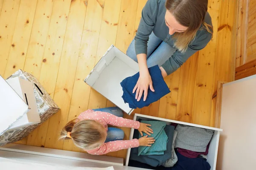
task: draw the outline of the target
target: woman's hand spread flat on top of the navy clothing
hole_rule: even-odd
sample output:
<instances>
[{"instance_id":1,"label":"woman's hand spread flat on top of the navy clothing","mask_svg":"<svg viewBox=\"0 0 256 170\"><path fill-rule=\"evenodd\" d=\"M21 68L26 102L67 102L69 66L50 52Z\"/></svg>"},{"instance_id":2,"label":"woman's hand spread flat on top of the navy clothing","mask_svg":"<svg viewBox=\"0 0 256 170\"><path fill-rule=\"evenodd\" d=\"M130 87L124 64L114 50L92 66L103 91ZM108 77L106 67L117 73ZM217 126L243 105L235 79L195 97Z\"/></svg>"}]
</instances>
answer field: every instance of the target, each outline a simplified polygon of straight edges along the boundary
<instances>
[{"instance_id":1,"label":"woman's hand spread flat on top of the navy clothing","mask_svg":"<svg viewBox=\"0 0 256 170\"><path fill-rule=\"evenodd\" d=\"M143 95L143 91L144 91L143 101L145 101L147 99L148 86L149 86L150 90L154 92L152 79L148 72L148 68L146 68L146 69L140 71L140 77L132 91L132 93L134 93L136 91L135 99L137 99L138 102L140 101L140 98Z\"/></svg>"}]
</instances>

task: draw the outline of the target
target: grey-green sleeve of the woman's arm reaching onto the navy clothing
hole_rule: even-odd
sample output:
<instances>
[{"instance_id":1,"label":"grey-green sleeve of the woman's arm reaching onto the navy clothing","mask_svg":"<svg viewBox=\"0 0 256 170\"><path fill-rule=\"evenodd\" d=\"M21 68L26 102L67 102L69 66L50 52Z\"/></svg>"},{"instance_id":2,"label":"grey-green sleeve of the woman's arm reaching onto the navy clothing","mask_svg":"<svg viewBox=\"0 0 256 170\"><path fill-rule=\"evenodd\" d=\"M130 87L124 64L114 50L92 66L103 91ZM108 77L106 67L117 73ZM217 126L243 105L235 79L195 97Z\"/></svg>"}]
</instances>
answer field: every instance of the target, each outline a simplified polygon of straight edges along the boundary
<instances>
[{"instance_id":1,"label":"grey-green sleeve of the woman's arm reaching onto the navy clothing","mask_svg":"<svg viewBox=\"0 0 256 170\"><path fill-rule=\"evenodd\" d=\"M147 54L148 37L153 31L156 22L156 14L157 1L148 0L142 10L140 25L134 38L136 55Z\"/></svg>"}]
</instances>

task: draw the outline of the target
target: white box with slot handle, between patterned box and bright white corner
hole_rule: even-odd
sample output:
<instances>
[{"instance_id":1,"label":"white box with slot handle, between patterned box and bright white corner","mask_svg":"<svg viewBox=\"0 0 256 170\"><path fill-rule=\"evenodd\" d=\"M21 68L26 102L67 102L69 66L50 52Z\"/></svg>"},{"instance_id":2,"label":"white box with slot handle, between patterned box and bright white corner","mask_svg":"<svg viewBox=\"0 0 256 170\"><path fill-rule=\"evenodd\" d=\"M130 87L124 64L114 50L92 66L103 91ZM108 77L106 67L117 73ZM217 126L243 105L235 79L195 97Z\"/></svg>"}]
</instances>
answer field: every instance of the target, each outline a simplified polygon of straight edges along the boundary
<instances>
[{"instance_id":1,"label":"white box with slot handle, between patterned box and bright white corner","mask_svg":"<svg viewBox=\"0 0 256 170\"><path fill-rule=\"evenodd\" d=\"M14 130L22 127L27 127L41 122L38 106L35 100L34 87L32 82L14 77L7 79L6 82L15 90L15 92L23 99L24 102L31 108L17 122L15 122L9 130Z\"/></svg>"}]
</instances>

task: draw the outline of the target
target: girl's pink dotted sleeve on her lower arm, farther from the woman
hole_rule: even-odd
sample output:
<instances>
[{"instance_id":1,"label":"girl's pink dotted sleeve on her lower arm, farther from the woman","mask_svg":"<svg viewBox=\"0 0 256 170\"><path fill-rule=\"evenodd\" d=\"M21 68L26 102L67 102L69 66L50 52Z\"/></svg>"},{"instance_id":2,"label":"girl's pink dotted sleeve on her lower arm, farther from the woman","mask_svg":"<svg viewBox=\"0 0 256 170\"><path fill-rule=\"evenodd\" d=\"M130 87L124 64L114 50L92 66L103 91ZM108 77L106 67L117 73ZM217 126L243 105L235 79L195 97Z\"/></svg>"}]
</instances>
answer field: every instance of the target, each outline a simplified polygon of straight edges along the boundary
<instances>
[{"instance_id":1,"label":"girl's pink dotted sleeve on her lower arm, farther from the woman","mask_svg":"<svg viewBox=\"0 0 256 170\"><path fill-rule=\"evenodd\" d=\"M138 139L132 139L127 141L117 140L113 142L104 143L101 146L97 147L96 149L86 150L86 151L91 155L103 155L109 152L115 152L118 150L139 147L139 146L140 144Z\"/></svg>"}]
</instances>

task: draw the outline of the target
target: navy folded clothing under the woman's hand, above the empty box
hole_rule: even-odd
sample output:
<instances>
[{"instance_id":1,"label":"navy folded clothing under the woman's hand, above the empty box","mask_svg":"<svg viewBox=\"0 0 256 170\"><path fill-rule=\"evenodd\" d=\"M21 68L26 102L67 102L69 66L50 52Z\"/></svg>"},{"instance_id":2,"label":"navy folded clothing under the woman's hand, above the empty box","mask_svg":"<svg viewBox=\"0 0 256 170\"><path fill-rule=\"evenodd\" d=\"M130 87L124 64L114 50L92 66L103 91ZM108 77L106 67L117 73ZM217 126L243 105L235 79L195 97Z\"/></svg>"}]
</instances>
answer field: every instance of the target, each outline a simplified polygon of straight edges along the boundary
<instances>
[{"instance_id":1,"label":"navy folded clothing under the woman's hand, above the empty box","mask_svg":"<svg viewBox=\"0 0 256 170\"><path fill-rule=\"evenodd\" d=\"M122 98L125 103L129 104L130 108L143 108L145 106L150 105L153 102L156 102L157 100L161 99L161 97L171 92L168 86L166 85L166 82L163 80L163 76L158 65L148 68L148 71L153 82L154 92L148 89L148 96L145 101L143 101L144 94L142 95L140 101L137 102L137 100L135 99L136 92L134 94L132 93L140 77L139 72L134 76L125 78L120 83L123 90Z\"/></svg>"}]
</instances>

